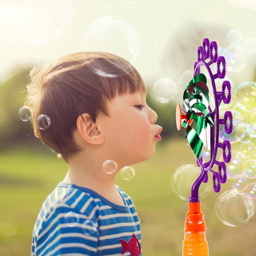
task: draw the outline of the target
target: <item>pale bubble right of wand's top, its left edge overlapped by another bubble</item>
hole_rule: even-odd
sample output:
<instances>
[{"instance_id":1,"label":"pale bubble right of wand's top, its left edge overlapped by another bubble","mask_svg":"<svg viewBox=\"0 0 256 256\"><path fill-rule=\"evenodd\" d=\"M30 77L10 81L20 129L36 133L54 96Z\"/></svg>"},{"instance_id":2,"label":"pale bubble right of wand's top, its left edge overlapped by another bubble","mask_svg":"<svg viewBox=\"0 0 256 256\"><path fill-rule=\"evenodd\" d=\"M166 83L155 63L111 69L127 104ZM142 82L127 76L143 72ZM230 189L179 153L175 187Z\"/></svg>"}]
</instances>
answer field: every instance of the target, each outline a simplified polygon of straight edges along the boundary
<instances>
[{"instance_id":1,"label":"pale bubble right of wand's top, its left edge overlapped by another bubble","mask_svg":"<svg viewBox=\"0 0 256 256\"><path fill-rule=\"evenodd\" d=\"M244 49L239 45L230 45L227 48L233 54L230 60L230 72L238 72L246 66L246 54Z\"/></svg>"}]
</instances>

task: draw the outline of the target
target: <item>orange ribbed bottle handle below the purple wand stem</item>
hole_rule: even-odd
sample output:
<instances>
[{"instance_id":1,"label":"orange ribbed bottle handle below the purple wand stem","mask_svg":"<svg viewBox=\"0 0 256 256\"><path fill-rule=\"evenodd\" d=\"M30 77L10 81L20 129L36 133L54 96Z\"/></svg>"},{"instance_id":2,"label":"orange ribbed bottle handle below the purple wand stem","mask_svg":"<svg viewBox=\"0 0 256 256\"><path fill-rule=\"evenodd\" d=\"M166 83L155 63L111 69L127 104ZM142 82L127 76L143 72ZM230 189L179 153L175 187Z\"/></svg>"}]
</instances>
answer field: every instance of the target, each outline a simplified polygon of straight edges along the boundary
<instances>
[{"instance_id":1,"label":"orange ribbed bottle handle below the purple wand stem","mask_svg":"<svg viewBox=\"0 0 256 256\"><path fill-rule=\"evenodd\" d=\"M205 238L206 230L204 212L201 211L200 201L188 202L182 256L209 256L208 243Z\"/></svg>"}]
</instances>

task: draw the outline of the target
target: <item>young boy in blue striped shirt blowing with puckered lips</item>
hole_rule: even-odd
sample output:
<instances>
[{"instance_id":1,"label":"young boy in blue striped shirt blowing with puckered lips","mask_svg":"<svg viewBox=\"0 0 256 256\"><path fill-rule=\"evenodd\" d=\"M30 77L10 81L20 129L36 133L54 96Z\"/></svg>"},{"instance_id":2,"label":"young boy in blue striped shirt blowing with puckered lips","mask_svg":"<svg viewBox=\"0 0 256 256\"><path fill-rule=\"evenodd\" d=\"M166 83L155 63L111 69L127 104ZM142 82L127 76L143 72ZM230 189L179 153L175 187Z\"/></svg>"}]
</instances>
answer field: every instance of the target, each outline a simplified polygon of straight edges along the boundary
<instances>
[{"instance_id":1,"label":"young boy in blue striped shirt blowing with puckered lips","mask_svg":"<svg viewBox=\"0 0 256 256\"><path fill-rule=\"evenodd\" d=\"M115 184L118 170L154 154L162 131L140 74L115 54L75 52L29 75L35 136L69 167L37 216L32 256L141 256L140 219Z\"/></svg>"}]
</instances>

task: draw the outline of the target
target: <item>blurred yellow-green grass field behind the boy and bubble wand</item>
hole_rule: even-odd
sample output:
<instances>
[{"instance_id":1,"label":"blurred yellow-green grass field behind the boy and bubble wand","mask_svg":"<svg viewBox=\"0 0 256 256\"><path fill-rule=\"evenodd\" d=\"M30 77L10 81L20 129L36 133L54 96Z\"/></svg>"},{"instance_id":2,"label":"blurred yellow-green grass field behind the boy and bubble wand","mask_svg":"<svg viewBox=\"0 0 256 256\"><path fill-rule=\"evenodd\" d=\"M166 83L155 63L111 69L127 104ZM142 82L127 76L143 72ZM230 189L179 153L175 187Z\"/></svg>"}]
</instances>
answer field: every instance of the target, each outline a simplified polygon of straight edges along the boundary
<instances>
[{"instance_id":1,"label":"blurred yellow-green grass field behind the boy and bubble wand","mask_svg":"<svg viewBox=\"0 0 256 256\"><path fill-rule=\"evenodd\" d=\"M175 139L156 143L156 151L147 161L134 164L136 175L118 184L132 197L141 220L144 256L180 256L184 239L184 221L188 202L178 198L170 187L172 173L183 164L196 164L187 140ZM44 146L44 145L43 145ZM43 150L42 150L43 149ZM31 255L32 231L42 203L64 179L68 164L45 146L6 147L0 152L0 255ZM211 176L210 176L211 177ZM208 182L211 182L211 178ZM231 189L230 180L220 193L201 200L206 221L206 239L211 256L256 255L256 218L243 227L228 227L215 215L217 197ZM199 195L200 196L200 195Z\"/></svg>"}]
</instances>

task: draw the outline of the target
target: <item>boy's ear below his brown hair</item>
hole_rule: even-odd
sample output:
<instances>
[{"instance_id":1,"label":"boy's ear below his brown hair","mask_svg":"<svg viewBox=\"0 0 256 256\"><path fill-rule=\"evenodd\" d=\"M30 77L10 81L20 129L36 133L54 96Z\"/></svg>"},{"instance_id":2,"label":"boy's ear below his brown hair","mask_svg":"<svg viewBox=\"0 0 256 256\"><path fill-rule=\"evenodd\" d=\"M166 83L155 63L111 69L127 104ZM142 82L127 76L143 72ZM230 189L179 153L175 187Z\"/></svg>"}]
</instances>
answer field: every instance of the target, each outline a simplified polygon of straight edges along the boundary
<instances>
[{"instance_id":1,"label":"boy's ear below his brown hair","mask_svg":"<svg viewBox=\"0 0 256 256\"><path fill-rule=\"evenodd\" d=\"M83 113L77 117L76 126L80 136L86 142L96 145L104 142L105 139L102 132L98 130L88 113Z\"/></svg>"}]
</instances>

